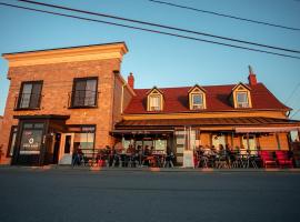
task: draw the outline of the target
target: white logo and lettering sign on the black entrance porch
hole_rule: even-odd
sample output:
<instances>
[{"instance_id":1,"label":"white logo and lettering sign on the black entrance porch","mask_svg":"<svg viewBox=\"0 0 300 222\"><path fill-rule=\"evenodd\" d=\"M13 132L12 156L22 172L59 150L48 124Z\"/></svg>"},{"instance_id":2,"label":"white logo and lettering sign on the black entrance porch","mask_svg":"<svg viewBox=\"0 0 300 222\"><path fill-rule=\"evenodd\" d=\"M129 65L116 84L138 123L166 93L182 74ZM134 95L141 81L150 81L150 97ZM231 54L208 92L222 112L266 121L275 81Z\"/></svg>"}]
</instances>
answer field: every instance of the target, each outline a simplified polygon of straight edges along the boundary
<instances>
[{"instance_id":1,"label":"white logo and lettering sign on the black entrance porch","mask_svg":"<svg viewBox=\"0 0 300 222\"><path fill-rule=\"evenodd\" d=\"M20 154L40 154L42 130L26 129L22 132Z\"/></svg>"}]
</instances>

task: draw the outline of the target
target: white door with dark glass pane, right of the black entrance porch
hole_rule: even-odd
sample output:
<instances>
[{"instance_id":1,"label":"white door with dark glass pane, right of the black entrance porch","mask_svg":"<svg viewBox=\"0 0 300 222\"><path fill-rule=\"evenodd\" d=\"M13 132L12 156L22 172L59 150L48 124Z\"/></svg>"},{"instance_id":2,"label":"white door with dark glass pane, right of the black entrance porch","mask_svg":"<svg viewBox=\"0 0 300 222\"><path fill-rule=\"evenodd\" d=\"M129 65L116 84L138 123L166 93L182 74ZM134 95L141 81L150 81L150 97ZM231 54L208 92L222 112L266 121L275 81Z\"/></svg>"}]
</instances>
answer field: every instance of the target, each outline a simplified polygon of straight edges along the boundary
<instances>
[{"instance_id":1,"label":"white door with dark glass pane, right of the black entrance porch","mask_svg":"<svg viewBox=\"0 0 300 222\"><path fill-rule=\"evenodd\" d=\"M72 164L74 133L61 134L59 164Z\"/></svg>"}]
</instances>

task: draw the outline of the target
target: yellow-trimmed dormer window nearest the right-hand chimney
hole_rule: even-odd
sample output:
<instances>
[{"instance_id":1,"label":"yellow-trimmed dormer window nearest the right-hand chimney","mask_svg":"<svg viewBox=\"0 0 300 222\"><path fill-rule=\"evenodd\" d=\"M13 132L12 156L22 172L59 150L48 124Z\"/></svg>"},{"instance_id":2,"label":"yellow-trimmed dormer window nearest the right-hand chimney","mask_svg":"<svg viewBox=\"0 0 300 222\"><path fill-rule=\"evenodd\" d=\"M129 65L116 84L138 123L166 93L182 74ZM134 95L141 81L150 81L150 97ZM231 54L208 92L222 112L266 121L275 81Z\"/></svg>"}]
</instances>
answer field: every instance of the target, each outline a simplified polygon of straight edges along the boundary
<instances>
[{"instance_id":1,"label":"yellow-trimmed dormer window nearest the right-hand chimney","mask_svg":"<svg viewBox=\"0 0 300 222\"><path fill-rule=\"evenodd\" d=\"M250 88L243 83L237 84L232 89L232 99L234 108L251 108Z\"/></svg>"}]
</instances>

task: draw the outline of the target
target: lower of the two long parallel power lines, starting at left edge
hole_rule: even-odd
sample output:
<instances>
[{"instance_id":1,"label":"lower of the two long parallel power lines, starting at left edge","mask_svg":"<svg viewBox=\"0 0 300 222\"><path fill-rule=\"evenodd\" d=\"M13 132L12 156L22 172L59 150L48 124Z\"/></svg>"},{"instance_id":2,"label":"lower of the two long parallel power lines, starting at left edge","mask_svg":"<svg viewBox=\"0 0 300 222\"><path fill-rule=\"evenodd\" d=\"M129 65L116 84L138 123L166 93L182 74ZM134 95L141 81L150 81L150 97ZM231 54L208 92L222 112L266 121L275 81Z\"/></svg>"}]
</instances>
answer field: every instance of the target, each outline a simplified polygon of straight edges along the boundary
<instances>
[{"instance_id":1,"label":"lower of the two long parallel power lines, starting at left edge","mask_svg":"<svg viewBox=\"0 0 300 222\"><path fill-rule=\"evenodd\" d=\"M29 11L37 11L37 12L54 14L54 16L60 16L60 17L67 17L67 18L73 18L73 19L79 19L79 20L84 20L84 21L93 21L93 22L99 22L99 23L104 23L104 24L110 24L110 26L116 26L116 27L122 27L122 28L128 28L128 29L147 31L147 32L151 32L151 33L177 37L177 38L181 38L181 39L189 39L189 40L201 41L201 42L207 42L207 43L212 43L212 44L219 44L219 46L224 46L224 47L230 47L230 48L236 48L236 49L243 49L243 50L248 50L248 51L274 54L274 56L279 56L279 57L300 59L300 57L296 57L296 56L291 56L291 54L283 54L283 53L266 51L266 50L260 50L260 49L253 49L253 48L248 48L248 47L240 47L240 46L236 46L236 44L228 44L228 43L223 43L223 42L204 40L204 39L199 39L199 38L193 38L193 37L171 33L171 32L158 31L158 30L153 30L153 29L144 29L144 28L140 28L140 27L121 24L121 23L117 23L117 22L109 22L109 21L103 21L103 20L90 19L90 18L84 18L84 17L78 17L78 16L71 16L71 14L59 13L59 12L53 12L53 11L40 10L40 9L34 9L34 8L29 8L29 7L21 7L21 6L9 4L9 3L3 3L3 2L0 2L0 6L18 8L18 9L24 9L24 10L29 10Z\"/></svg>"}]
</instances>

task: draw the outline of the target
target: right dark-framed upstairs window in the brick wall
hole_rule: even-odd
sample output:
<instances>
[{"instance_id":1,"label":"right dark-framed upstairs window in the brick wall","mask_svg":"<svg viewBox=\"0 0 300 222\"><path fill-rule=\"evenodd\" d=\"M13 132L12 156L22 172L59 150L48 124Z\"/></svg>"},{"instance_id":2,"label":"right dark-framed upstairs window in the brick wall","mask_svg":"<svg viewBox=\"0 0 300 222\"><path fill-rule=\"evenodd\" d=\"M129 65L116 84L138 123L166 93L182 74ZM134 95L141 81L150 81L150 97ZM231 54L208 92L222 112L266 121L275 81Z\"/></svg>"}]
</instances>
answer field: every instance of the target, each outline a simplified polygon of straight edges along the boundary
<instances>
[{"instance_id":1,"label":"right dark-framed upstairs window in the brick wall","mask_svg":"<svg viewBox=\"0 0 300 222\"><path fill-rule=\"evenodd\" d=\"M97 78L74 79L71 107L96 107L97 84Z\"/></svg>"}]
</instances>

